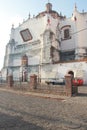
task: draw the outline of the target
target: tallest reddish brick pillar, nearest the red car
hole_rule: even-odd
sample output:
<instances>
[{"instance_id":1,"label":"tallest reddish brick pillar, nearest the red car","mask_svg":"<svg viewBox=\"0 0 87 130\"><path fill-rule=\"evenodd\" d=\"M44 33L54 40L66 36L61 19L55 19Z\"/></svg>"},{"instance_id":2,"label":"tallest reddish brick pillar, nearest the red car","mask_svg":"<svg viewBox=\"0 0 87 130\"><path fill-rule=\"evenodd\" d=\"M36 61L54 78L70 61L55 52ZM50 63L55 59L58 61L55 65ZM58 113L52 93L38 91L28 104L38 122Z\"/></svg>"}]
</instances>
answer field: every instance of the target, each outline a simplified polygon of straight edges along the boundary
<instances>
[{"instance_id":1,"label":"tallest reddish brick pillar, nearest the red car","mask_svg":"<svg viewBox=\"0 0 87 130\"><path fill-rule=\"evenodd\" d=\"M65 75L65 89L66 96L72 96L72 76L70 74Z\"/></svg>"}]
</instances>

